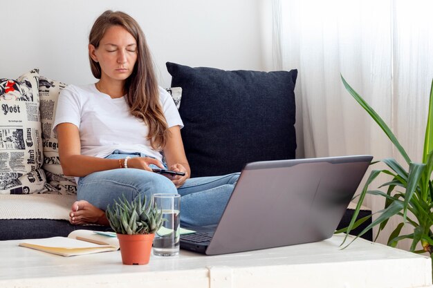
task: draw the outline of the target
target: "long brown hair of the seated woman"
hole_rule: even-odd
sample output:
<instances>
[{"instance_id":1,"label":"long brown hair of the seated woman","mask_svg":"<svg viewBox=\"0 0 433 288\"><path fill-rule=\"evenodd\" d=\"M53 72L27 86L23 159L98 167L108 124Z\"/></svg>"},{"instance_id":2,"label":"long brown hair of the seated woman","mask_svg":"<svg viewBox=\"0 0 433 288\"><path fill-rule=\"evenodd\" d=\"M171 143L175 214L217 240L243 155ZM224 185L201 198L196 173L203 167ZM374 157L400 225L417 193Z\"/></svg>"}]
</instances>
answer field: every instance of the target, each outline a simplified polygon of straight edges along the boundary
<instances>
[{"instance_id":1,"label":"long brown hair of the seated woman","mask_svg":"<svg viewBox=\"0 0 433 288\"><path fill-rule=\"evenodd\" d=\"M142 119L149 127L147 140L152 148L160 150L167 143L169 131L159 102L158 83L145 34L131 16L124 12L107 10L93 24L89 34L89 44L98 48L100 40L111 26L122 26L137 41L137 61L132 74L125 82L127 104L132 115ZM100 79L100 64L93 61L90 54L89 60L93 76Z\"/></svg>"}]
</instances>

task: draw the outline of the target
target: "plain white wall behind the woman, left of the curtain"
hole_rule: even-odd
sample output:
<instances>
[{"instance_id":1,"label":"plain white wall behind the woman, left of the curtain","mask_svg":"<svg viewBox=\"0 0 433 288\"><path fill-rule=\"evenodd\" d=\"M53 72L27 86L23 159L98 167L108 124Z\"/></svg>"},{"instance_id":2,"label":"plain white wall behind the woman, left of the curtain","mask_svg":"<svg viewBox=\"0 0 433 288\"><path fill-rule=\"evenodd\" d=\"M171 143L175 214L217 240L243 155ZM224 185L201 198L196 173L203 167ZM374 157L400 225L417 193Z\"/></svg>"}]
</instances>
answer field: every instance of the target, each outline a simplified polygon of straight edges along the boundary
<instances>
[{"instance_id":1,"label":"plain white wall behind the woman, left of the curtain","mask_svg":"<svg viewBox=\"0 0 433 288\"><path fill-rule=\"evenodd\" d=\"M87 37L104 10L134 17L147 36L161 86L166 61L225 70L264 70L262 0L1 0L0 77L34 67L66 84L95 81Z\"/></svg>"}]
</instances>

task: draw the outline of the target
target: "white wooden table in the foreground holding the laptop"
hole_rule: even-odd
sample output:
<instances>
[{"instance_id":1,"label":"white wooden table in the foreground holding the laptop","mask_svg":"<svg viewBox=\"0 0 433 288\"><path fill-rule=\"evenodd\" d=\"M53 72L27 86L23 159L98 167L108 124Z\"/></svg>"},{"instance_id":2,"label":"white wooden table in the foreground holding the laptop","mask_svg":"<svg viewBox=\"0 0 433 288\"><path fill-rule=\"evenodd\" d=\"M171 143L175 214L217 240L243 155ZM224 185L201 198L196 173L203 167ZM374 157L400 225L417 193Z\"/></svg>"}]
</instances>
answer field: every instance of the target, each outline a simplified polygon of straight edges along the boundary
<instances>
[{"instance_id":1,"label":"white wooden table in the foreground holding the laptop","mask_svg":"<svg viewBox=\"0 0 433 288\"><path fill-rule=\"evenodd\" d=\"M182 251L122 265L120 251L65 258L0 241L0 287L433 287L426 256L342 236L221 256Z\"/></svg>"}]
</instances>

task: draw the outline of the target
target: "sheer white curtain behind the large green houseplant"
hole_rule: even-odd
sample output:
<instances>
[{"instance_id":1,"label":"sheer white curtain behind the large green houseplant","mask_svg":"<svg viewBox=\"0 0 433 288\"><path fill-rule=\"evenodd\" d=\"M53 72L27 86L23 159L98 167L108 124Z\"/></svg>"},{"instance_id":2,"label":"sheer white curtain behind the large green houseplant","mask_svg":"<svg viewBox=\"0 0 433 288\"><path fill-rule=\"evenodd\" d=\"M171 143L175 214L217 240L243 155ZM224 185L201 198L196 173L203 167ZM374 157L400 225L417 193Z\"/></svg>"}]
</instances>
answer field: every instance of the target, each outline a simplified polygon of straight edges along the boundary
<instances>
[{"instance_id":1,"label":"sheer white curtain behind the large green houseplant","mask_svg":"<svg viewBox=\"0 0 433 288\"><path fill-rule=\"evenodd\" d=\"M303 146L298 155L368 153L376 160L401 160L376 123L346 92L341 73L383 117L412 160L421 161L433 77L433 2L271 3L273 68L299 70L297 129L302 130ZM383 207L378 198L368 201L373 211ZM385 235L379 238L379 242L386 240Z\"/></svg>"}]
</instances>

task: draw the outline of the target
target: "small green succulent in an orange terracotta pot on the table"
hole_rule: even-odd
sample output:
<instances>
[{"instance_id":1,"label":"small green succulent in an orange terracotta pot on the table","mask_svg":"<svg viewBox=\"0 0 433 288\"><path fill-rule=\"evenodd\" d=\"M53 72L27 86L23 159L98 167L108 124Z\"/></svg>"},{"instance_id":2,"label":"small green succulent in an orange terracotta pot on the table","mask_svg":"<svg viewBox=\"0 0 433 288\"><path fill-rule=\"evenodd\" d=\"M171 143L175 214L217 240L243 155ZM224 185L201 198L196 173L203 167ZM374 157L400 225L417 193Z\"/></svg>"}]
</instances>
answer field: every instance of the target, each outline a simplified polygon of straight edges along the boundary
<instances>
[{"instance_id":1,"label":"small green succulent in an orange terracotta pot on the table","mask_svg":"<svg viewBox=\"0 0 433 288\"><path fill-rule=\"evenodd\" d=\"M140 195L129 202L125 195L107 207L107 218L117 233L122 262L125 265L149 263L155 232L163 224L163 214L156 209L153 198Z\"/></svg>"}]
</instances>

